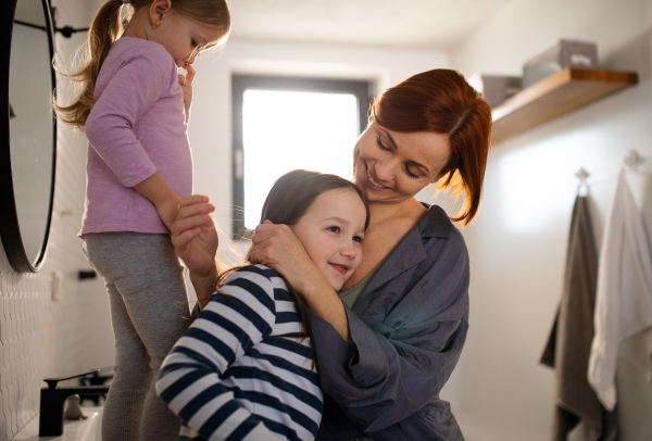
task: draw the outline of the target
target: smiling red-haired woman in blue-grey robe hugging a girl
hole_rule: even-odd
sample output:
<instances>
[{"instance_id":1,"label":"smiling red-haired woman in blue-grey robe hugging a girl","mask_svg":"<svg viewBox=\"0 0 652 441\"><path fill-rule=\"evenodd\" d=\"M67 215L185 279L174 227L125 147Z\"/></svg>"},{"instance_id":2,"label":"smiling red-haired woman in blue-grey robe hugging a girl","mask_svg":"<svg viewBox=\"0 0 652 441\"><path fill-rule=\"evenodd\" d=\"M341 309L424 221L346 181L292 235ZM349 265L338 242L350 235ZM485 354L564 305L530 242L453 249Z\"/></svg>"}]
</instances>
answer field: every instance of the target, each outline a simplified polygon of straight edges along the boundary
<instances>
[{"instance_id":1,"label":"smiling red-haired woman in blue-grey robe hugging a girl","mask_svg":"<svg viewBox=\"0 0 652 441\"><path fill-rule=\"evenodd\" d=\"M310 310L325 408L323 440L463 440L439 392L468 329L468 254L444 213L415 199L425 187L464 193L453 222L477 214L491 110L450 70L414 75L371 105L355 148L354 182L369 223L363 262L335 292L286 225L256 227L250 260L280 273ZM214 286L212 205L181 203L173 243L198 297Z\"/></svg>"}]
</instances>

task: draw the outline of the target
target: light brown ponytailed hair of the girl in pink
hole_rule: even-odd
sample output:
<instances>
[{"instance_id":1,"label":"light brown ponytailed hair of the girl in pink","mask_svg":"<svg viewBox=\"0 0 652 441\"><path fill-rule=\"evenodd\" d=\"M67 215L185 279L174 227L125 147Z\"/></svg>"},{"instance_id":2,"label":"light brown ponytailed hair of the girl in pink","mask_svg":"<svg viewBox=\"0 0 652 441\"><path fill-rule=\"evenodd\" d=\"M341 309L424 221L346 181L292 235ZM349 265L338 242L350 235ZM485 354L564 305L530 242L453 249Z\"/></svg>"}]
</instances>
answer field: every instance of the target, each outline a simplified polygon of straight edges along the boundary
<instances>
[{"instance_id":1,"label":"light brown ponytailed hair of the girl in pink","mask_svg":"<svg viewBox=\"0 0 652 441\"><path fill-rule=\"evenodd\" d=\"M170 0L172 9L179 14L206 26L222 27L226 37L230 30L230 14L225 0ZM131 7L127 16L130 18L135 11L147 8L152 0L130 0ZM86 119L96 103L95 86L102 63L109 54L109 49L124 30L121 11L123 0L109 0L96 13L88 30L88 53L84 66L67 77L79 84L79 96L70 105L59 105L53 99L54 112L59 118L76 126L84 131ZM222 39L224 40L224 38Z\"/></svg>"}]
</instances>

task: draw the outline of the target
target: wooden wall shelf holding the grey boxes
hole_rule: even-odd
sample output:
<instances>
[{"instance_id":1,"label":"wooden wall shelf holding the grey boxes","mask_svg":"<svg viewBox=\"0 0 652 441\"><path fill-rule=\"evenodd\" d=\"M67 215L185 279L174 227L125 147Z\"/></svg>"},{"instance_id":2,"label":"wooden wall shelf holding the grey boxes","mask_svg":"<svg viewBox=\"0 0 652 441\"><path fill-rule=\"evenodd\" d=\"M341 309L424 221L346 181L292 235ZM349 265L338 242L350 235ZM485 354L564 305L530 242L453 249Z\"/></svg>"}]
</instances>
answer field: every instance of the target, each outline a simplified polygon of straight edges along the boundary
<instances>
[{"instance_id":1,"label":"wooden wall shelf holding the grey boxes","mask_svg":"<svg viewBox=\"0 0 652 441\"><path fill-rule=\"evenodd\" d=\"M637 83L634 72L565 68L494 108L492 141L523 134Z\"/></svg>"}]
</instances>

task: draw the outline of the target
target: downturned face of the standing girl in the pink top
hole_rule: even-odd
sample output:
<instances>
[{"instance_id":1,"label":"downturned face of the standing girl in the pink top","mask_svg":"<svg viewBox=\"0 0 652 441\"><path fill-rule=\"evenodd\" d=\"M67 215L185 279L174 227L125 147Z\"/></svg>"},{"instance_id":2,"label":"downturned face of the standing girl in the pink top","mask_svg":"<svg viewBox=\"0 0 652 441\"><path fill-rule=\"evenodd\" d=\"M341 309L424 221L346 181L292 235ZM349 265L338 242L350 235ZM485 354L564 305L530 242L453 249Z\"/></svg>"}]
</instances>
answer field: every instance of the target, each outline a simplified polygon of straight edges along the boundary
<instances>
[{"instance_id":1,"label":"downturned face of the standing girl in the pink top","mask_svg":"<svg viewBox=\"0 0 652 441\"><path fill-rule=\"evenodd\" d=\"M199 52L215 46L225 35L224 29L202 25L174 9L162 16L154 29L148 29L148 39L163 46L177 67L195 63Z\"/></svg>"}]
</instances>

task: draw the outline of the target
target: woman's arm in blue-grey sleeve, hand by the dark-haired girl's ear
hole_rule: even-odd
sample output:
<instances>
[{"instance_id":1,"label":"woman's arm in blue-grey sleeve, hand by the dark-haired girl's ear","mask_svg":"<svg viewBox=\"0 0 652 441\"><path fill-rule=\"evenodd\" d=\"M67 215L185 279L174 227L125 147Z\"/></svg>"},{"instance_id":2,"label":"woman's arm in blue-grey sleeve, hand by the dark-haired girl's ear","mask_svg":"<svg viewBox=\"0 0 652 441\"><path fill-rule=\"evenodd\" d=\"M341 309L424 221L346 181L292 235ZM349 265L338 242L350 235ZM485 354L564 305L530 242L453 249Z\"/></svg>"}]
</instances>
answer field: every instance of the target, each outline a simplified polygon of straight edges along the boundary
<instances>
[{"instance_id":1,"label":"woman's arm in blue-grey sleeve, hand by the dark-haired girl's ear","mask_svg":"<svg viewBox=\"0 0 652 441\"><path fill-rule=\"evenodd\" d=\"M365 304L356 305L360 316L343 305L343 319L328 315L327 308L321 314L313 311L324 392L362 432L394 430L400 421L414 418L427 403L438 400L466 339L466 247L446 213L430 215L436 218L430 224L442 227L430 225L435 232L426 243L417 229L401 242L379 275L388 274L390 267L402 269L394 269L394 276L377 288L372 281L373 291L359 300ZM291 231L266 226L253 239L258 259L298 286L306 301L312 299L311 308L322 304L319 297L337 297L321 285L316 288L318 279L305 263L308 257L301 257L297 244L291 244ZM291 257L286 260L286 255Z\"/></svg>"}]
</instances>

